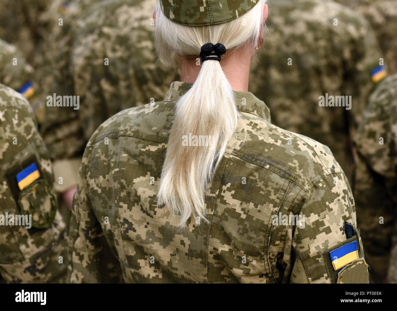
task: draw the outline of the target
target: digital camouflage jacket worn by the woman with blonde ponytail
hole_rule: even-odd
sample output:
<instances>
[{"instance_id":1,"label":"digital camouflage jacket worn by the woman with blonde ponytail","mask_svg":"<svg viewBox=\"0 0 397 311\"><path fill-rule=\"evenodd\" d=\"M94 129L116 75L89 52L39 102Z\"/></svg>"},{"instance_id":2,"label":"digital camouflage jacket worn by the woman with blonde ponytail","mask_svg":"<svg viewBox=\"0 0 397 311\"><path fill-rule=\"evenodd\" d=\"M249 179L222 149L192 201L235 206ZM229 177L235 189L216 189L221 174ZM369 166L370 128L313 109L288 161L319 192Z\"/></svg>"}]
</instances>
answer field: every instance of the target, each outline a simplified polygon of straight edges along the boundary
<instances>
[{"instance_id":1,"label":"digital camouflage jacket worn by the woman with blonde ponytail","mask_svg":"<svg viewBox=\"0 0 397 311\"><path fill-rule=\"evenodd\" d=\"M345 234L356 215L343 170L326 146L272 125L249 92L235 92L241 132L207 193L210 225L190 220L178 231L156 187L175 100L188 88L173 82L164 101L121 111L91 137L71 219L71 282L368 282L360 237ZM281 220L292 215L301 222ZM357 258L335 270L330 251L349 243Z\"/></svg>"}]
</instances>

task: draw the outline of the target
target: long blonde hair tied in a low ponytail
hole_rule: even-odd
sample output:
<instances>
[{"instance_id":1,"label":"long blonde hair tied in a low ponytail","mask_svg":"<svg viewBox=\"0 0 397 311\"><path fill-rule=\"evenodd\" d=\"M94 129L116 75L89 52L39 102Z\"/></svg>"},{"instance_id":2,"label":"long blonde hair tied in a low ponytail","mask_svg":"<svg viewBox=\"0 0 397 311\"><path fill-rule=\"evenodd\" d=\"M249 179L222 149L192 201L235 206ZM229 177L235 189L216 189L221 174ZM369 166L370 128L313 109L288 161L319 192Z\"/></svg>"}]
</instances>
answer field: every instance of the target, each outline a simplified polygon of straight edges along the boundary
<instances>
[{"instance_id":1,"label":"long blonde hair tied in a low ponytail","mask_svg":"<svg viewBox=\"0 0 397 311\"><path fill-rule=\"evenodd\" d=\"M157 4L155 40L160 59L171 64L175 55L198 56L201 46L208 42L220 42L231 53L244 44L250 44L254 51L264 23L265 3L258 0L250 11L232 21L197 27L170 21ZM205 193L236 132L237 118L235 96L220 63L204 61L196 81L175 103L157 195L159 205L180 216L179 227L184 227L191 216L208 222ZM187 137L201 137L206 143L186 145Z\"/></svg>"}]
</instances>

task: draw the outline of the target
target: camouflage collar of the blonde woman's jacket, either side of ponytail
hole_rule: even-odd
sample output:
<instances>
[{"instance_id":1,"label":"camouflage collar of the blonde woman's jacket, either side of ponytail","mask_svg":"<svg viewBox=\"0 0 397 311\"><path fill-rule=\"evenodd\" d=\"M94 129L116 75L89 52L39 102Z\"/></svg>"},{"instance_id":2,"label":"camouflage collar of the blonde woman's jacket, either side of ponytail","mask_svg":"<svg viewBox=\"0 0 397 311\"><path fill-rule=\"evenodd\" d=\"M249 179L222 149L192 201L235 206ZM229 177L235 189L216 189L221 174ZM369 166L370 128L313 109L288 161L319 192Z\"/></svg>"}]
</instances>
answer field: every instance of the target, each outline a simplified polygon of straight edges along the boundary
<instances>
[{"instance_id":1,"label":"camouflage collar of the blonde woman's jacket, either side of ponytail","mask_svg":"<svg viewBox=\"0 0 397 311\"><path fill-rule=\"evenodd\" d=\"M187 92L191 86L192 84L187 82L172 82L164 101L177 101L177 99ZM270 111L263 101L256 98L251 92L233 92L236 96L238 111L255 114L270 122Z\"/></svg>"}]
</instances>

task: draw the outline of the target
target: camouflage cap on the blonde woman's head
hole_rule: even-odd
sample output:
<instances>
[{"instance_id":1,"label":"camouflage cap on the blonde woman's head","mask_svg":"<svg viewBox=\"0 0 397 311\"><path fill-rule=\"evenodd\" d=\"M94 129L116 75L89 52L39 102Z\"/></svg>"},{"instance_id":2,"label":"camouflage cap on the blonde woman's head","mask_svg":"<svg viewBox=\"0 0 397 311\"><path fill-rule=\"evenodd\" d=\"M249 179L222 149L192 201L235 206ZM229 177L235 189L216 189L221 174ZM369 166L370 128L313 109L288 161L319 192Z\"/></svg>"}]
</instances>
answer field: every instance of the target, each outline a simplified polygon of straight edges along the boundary
<instances>
[{"instance_id":1,"label":"camouflage cap on the blonde woman's head","mask_svg":"<svg viewBox=\"0 0 397 311\"><path fill-rule=\"evenodd\" d=\"M258 0L160 0L164 15L188 26L221 24L251 10Z\"/></svg>"}]
</instances>

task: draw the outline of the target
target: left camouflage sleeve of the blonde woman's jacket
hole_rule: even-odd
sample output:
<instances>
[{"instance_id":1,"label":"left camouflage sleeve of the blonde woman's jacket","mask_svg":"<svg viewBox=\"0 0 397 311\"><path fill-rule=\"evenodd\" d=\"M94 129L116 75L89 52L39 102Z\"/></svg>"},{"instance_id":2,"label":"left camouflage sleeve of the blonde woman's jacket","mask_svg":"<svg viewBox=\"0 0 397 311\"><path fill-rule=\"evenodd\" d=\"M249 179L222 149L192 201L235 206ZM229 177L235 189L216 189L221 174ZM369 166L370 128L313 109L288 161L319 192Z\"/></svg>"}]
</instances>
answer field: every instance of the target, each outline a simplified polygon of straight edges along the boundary
<instances>
[{"instance_id":1,"label":"left camouflage sleeve of the blonde woman's jacket","mask_svg":"<svg viewBox=\"0 0 397 311\"><path fill-rule=\"evenodd\" d=\"M69 256L71 283L118 283L123 281L114 256L89 199L87 163L91 145L87 145L70 220ZM104 223L104 219L102 219ZM71 257L71 258L70 258Z\"/></svg>"}]
</instances>

